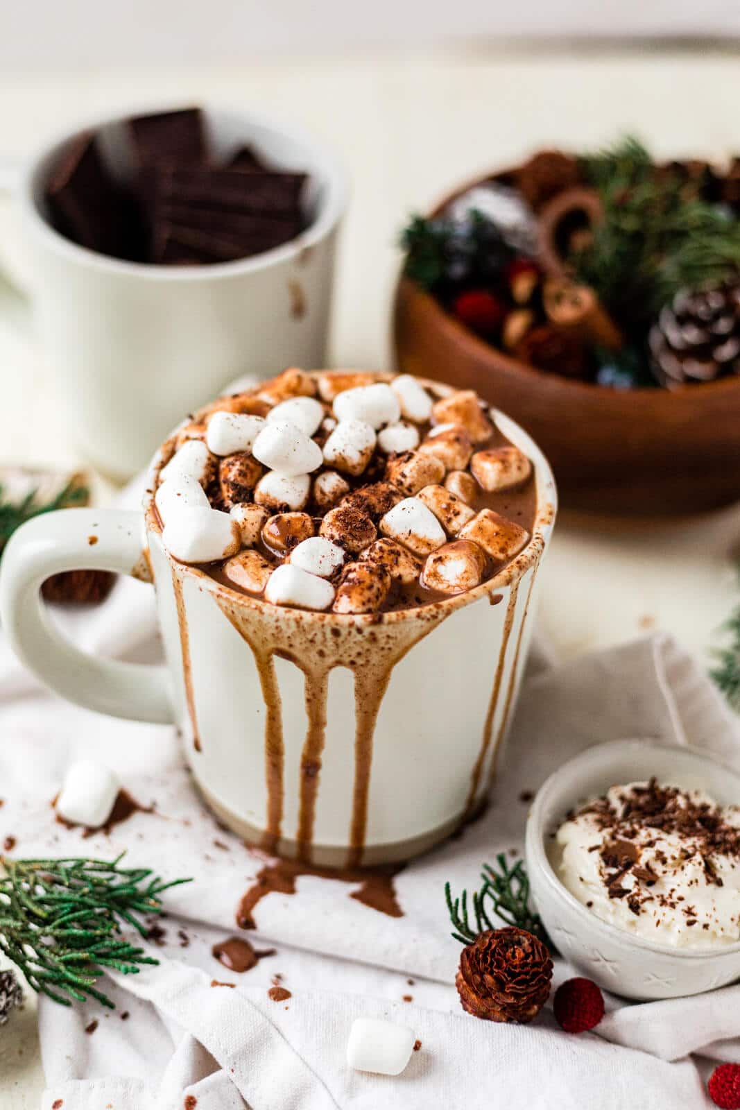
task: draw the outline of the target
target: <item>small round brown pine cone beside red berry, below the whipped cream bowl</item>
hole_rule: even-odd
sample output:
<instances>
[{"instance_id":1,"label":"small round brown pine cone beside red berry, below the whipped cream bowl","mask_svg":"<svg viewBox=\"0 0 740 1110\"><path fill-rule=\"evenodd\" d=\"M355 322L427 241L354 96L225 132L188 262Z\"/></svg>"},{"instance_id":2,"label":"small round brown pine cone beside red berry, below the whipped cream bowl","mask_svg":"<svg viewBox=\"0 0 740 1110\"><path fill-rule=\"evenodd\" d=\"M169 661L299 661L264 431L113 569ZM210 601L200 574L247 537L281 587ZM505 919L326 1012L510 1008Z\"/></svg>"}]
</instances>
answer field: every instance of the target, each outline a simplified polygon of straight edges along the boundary
<instances>
[{"instance_id":1,"label":"small round brown pine cone beside red berry, below the whipped cream bowl","mask_svg":"<svg viewBox=\"0 0 740 1110\"><path fill-rule=\"evenodd\" d=\"M485 1021L524 1023L547 1001L553 960L541 940L525 929L481 932L460 955L455 979L463 1009Z\"/></svg>"}]
</instances>

